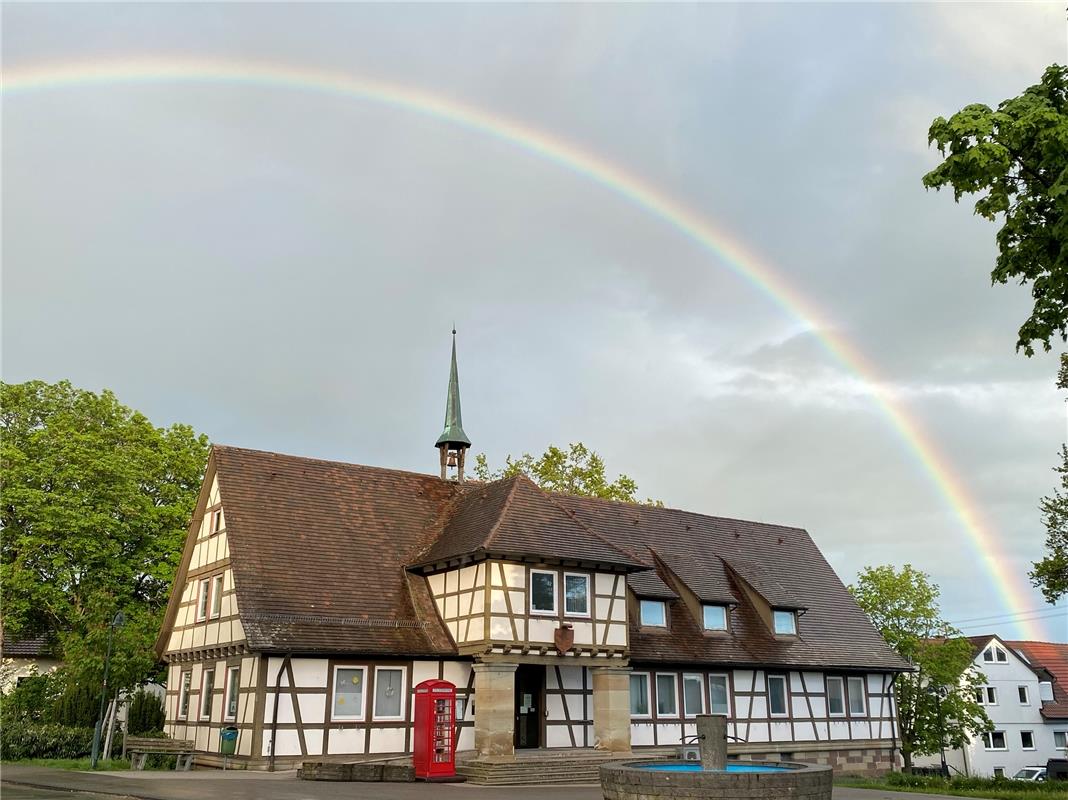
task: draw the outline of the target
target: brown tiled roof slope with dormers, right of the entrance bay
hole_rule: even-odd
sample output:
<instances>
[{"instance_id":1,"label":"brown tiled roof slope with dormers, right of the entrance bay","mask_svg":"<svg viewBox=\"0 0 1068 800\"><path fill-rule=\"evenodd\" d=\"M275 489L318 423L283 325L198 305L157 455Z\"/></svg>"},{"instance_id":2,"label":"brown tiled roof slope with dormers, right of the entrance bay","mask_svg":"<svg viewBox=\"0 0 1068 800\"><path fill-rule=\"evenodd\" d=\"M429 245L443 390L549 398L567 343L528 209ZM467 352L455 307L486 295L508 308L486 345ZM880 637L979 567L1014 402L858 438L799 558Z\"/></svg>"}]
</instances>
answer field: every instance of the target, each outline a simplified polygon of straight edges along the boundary
<instances>
[{"instance_id":1,"label":"brown tiled roof slope with dormers, right of the entrance bay","mask_svg":"<svg viewBox=\"0 0 1068 800\"><path fill-rule=\"evenodd\" d=\"M749 603L732 612L731 636L723 637L705 634L676 600L671 603L671 636L642 633L631 621L634 662L910 669L886 645L812 538L799 528L594 498L557 499L572 508L578 519L624 549L646 547L659 552L663 548L678 555L713 553L732 563L758 563L763 572L774 576L783 591L806 608L798 622L797 639L776 639ZM733 594L741 597L741 587L733 585Z\"/></svg>"}]
</instances>

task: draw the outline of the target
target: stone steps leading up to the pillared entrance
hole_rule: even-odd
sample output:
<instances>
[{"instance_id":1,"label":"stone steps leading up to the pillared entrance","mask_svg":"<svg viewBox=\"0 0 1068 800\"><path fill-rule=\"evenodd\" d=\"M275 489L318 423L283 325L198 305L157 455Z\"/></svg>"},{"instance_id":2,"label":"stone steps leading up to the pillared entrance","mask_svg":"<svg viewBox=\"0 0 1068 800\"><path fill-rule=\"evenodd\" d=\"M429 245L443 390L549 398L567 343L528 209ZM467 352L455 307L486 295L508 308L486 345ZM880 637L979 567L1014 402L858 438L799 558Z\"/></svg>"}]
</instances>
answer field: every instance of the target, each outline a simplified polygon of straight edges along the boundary
<instances>
[{"instance_id":1,"label":"stone steps leading up to the pillared entrance","mask_svg":"<svg viewBox=\"0 0 1068 800\"><path fill-rule=\"evenodd\" d=\"M674 754L672 749L671 754ZM626 758L657 758L669 752L644 751L640 755L600 753L597 751L543 751L523 753L514 762L487 762L472 759L456 765L456 772L470 783L484 786L519 786L523 784L598 783L600 765Z\"/></svg>"}]
</instances>

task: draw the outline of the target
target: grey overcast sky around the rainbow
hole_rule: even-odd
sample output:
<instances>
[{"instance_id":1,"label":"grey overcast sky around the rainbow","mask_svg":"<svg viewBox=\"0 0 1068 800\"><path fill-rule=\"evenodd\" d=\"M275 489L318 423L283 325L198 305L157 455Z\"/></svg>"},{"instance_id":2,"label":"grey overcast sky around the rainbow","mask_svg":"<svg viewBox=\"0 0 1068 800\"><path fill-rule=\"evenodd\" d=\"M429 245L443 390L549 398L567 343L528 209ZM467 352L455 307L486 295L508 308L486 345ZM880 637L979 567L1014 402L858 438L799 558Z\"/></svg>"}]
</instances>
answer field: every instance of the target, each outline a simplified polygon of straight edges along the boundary
<instances>
[{"instance_id":1,"label":"grey overcast sky around the rainbow","mask_svg":"<svg viewBox=\"0 0 1068 800\"><path fill-rule=\"evenodd\" d=\"M5 72L270 62L547 131L728 232L829 330L619 194L447 121L113 82L4 99L3 379L433 472L455 320L465 428L491 461L581 440L643 497L806 528L847 583L910 562L967 632L1021 636L1008 615L1045 609L1037 632L1066 641L1063 606L1004 601L818 341L866 356L1025 587L1065 438L1055 354L1014 351L1030 298L990 286L996 226L921 177L934 116L1064 63L1063 5L5 4Z\"/></svg>"}]
</instances>

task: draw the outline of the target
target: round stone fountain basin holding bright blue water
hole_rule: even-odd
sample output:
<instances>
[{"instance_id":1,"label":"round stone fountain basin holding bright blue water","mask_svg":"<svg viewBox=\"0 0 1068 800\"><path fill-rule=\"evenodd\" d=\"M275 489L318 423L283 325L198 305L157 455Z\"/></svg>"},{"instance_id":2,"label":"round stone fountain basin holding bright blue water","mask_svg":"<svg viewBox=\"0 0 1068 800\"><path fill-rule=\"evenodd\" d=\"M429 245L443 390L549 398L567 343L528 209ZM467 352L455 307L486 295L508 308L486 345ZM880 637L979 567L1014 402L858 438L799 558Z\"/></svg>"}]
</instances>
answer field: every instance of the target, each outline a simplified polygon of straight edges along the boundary
<instances>
[{"instance_id":1,"label":"round stone fountain basin holding bright blue water","mask_svg":"<svg viewBox=\"0 0 1068 800\"><path fill-rule=\"evenodd\" d=\"M705 771L693 769L693 762L615 762L600 768L601 791L604 800L831 800L829 766L795 762L728 762L728 766L765 769Z\"/></svg>"}]
</instances>

